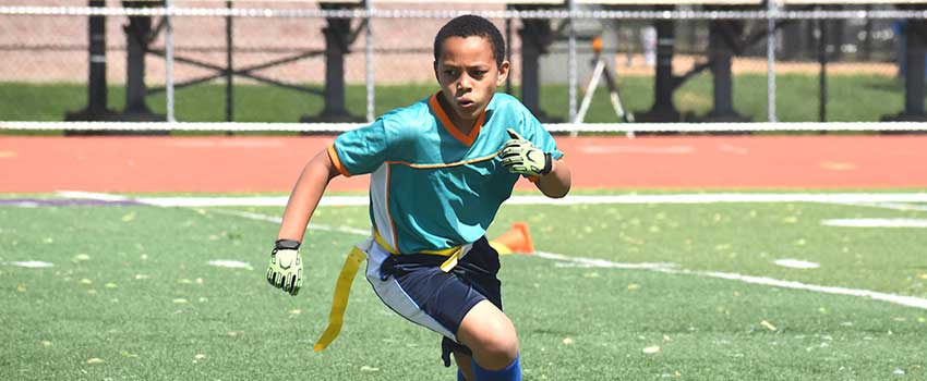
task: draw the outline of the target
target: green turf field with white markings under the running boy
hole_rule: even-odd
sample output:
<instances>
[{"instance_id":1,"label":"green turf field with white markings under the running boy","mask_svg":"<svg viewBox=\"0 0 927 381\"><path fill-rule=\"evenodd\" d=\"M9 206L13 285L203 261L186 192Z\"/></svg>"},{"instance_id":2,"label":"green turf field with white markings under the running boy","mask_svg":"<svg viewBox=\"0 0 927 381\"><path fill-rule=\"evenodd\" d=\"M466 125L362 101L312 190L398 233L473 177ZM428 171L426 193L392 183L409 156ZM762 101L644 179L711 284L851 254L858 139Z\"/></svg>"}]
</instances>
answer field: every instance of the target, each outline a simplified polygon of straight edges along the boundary
<instances>
[{"instance_id":1,"label":"green turf field with white markings under the running boy","mask_svg":"<svg viewBox=\"0 0 927 381\"><path fill-rule=\"evenodd\" d=\"M36 195L0 199L25 197ZM924 221L925 209L507 205L490 236L527 221L538 250L585 258L503 257L526 380L925 380L923 307L706 275L927 302L927 230L822 224ZM362 276L341 335L313 353L363 236L311 230L304 288L290 297L263 278L277 224L236 214L281 210L0 204L0 380L455 379L438 336L389 311ZM313 223L369 229L365 207L323 207ZM820 267L773 263L785 258ZM208 265L220 259L249 267ZM641 262L673 271L602 265Z\"/></svg>"}]
</instances>

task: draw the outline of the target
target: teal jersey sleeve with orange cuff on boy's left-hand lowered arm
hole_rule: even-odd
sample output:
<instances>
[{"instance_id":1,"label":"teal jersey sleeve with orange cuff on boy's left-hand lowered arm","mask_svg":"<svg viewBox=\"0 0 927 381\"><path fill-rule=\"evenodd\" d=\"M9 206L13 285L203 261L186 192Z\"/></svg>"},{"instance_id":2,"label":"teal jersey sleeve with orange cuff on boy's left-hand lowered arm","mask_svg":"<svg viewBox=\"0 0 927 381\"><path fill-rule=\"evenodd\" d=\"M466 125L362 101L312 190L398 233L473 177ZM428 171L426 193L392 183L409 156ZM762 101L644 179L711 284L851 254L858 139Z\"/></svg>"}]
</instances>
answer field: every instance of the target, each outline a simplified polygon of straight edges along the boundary
<instances>
[{"instance_id":1,"label":"teal jersey sleeve with orange cuff on boy's left-hand lowered arm","mask_svg":"<svg viewBox=\"0 0 927 381\"><path fill-rule=\"evenodd\" d=\"M345 176L375 171L387 160L389 142L383 119L373 124L351 130L335 138L328 147L332 162Z\"/></svg>"}]
</instances>

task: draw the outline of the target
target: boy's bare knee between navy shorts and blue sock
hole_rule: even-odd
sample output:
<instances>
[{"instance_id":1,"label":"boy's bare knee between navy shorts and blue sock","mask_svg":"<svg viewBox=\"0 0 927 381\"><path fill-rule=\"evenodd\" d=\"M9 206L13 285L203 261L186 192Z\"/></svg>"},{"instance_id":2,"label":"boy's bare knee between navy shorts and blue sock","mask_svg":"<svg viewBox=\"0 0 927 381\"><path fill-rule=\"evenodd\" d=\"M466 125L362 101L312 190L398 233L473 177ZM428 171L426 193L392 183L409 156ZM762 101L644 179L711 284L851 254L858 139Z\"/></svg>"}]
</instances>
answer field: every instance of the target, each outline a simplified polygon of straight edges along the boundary
<instances>
[{"instance_id":1,"label":"boy's bare knee between navy shorts and blue sock","mask_svg":"<svg viewBox=\"0 0 927 381\"><path fill-rule=\"evenodd\" d=\"M489 300L478 303L467 312L457 331L457 339L470 347L473 359L483 369L505 369L518 356L515 325Z\"/></svg>"}]
</instances>

